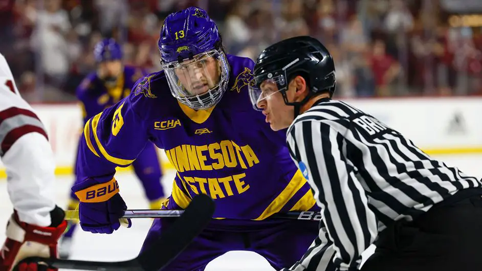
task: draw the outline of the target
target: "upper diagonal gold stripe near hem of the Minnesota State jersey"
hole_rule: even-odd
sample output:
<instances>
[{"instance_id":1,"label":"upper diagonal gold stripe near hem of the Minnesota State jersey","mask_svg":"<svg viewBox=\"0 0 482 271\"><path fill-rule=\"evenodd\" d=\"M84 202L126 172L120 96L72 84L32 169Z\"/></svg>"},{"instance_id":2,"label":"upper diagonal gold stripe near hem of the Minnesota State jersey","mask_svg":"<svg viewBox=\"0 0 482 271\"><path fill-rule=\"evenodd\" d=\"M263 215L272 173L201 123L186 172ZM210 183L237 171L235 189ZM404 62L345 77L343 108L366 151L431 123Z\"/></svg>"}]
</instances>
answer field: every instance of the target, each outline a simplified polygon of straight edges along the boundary
<instances>
[{"instance_id":1,"label":"upper diagonal gold stripe near hem of the Minnesota State jersey","mask_svg":"<svg viewBox=\"0 0 482 271\"><path fill-rule=\"evenodd\" d=\"M299 169L296 171L293 178L291 178L290 183L279 193L279 195L273 199L271 204L254 220L263 220L267 217L278 213L284 205L298 192L298 190L306 184L306 179L301 174Z\"/></svg>"}]
</instances>

